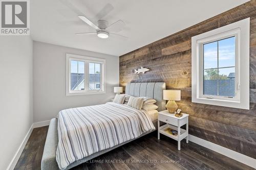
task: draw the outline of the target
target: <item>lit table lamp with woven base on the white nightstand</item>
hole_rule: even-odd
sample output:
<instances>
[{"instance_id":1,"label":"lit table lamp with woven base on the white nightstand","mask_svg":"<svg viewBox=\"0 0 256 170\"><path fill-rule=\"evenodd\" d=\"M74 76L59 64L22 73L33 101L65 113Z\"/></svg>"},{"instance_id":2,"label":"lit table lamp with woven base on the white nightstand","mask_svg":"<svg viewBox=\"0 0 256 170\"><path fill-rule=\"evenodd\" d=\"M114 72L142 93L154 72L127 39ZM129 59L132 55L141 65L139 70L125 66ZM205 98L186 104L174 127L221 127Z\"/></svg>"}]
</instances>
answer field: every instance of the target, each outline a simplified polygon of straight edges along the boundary
<instances>
[{"instance_id":1,"label":"lit table lamp with woven base on the white nightstand","mask_svg":"<svg viewBox=\"0 0 256 170\"><path fill-rule=\"evenodd\" d=\"M175 101L180 101L180 90L163 90L163 100L167 100L166 109L169 113L174 113L178 105Z\"/></svg>"}]
</instances>

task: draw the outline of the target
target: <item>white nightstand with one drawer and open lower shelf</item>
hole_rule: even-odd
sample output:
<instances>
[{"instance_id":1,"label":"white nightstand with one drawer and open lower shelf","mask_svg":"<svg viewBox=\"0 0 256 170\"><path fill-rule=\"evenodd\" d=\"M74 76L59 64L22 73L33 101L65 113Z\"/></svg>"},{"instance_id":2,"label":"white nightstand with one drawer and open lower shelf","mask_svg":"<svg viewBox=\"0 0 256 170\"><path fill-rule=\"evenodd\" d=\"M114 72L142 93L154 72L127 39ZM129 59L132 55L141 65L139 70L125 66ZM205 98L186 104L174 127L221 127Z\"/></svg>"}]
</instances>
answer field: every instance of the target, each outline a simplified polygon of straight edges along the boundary
<instances>
[{"instance_id":1,"label":"white nightstand with one drawer and open lower shelf","mask_svg":"<svg viewBox=\"0 0 256 170\"><path fill-rule=\"evenodd\" d=\"M160 133L173 138L178 141L178 150L180 150L180 141L186 138L186 142L188 143L188 116L189 114L182 113L182 117L176 117L175 114L168 113L168 110L164 110L158 113L158 139L160 139ZM160 122L166 123L165 125L160 127ZM186 124L186 130L180 128L181 126ZM177 135L170 134L165 129L170 128L178 131Z\"/></svg>"}]
</instances>

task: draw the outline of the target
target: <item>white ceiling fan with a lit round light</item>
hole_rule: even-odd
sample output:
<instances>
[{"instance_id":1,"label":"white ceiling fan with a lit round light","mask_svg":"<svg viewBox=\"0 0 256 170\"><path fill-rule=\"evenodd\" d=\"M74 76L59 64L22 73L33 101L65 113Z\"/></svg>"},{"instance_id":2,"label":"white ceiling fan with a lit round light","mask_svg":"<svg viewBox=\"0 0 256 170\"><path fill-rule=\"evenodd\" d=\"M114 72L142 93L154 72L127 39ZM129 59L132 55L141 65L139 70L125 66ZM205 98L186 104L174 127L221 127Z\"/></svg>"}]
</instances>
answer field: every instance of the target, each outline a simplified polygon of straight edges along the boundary
<instances>
[{"instance_id":1,"label":"white ceiling fan with a lit round light","mask_svg":"<svg viewBox=\"0 0 256 170\"><path fill-rule=\"evenodd\" d=\"M111 25L109 25L108 21L106 20L98 20L98 26L96 26L92 21L90 21L87 17L83 15L78 15L78 18L80 18L82 21L86 22L89 26L94 28L95 32L76 33L76 35L95 34L99 38L109 38L109 36L115 35L115 36L121 36L121 37L127 38L123 35L113 33L113 32L121 31L123 29L125 24L122 20L118 20L112 23Z\"/></svg>"}]
</instances>

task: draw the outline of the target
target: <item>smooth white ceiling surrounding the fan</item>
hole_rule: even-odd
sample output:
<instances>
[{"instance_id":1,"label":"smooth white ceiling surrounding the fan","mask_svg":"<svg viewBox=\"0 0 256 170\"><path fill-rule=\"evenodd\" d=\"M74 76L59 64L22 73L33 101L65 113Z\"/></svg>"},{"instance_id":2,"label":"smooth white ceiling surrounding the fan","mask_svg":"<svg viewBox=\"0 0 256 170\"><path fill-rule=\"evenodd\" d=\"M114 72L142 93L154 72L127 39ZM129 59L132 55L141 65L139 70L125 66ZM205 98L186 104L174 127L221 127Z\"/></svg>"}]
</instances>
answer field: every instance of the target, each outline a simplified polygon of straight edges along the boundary
<instances>
[{"instance_id":1,"label":"smooth white ceiling surrounding the fan","mask_svg":"<svg viewBox=\"0 0 256 170\"><path fill-rule=\"evenodd\" d=\"M63 3L65 1L72 3L96 25L99 19L109 23L123 20L126 26L118 34L129 38L75 35L95 30L82 22L77 13ZM245 2L248 0L33 0L31 36L36 41L120 56ZM99 18L108 11L104 7L111 6L113 10Z\"/></svg>"}]
</instances>

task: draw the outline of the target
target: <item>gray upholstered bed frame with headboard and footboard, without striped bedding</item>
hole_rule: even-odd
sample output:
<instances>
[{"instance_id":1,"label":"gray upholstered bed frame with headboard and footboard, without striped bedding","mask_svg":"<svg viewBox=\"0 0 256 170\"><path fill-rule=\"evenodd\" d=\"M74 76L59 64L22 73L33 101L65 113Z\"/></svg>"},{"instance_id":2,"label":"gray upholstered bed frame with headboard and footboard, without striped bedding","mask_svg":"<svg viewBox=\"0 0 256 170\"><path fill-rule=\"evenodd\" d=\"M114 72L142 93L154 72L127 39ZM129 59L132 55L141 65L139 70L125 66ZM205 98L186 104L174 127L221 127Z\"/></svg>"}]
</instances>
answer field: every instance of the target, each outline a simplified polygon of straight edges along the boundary
<instances>
[{"instance_id":1,"label":"gray upholstered bed frame with headboard and footboard, without striped bedding","mask_svg":"<svg viewBox=\"0 0 256 170\"><path fill-rule=\"evenodd\" d=\"M165 89L165 83L158 82L158 83L128 83L125 86L125 94L129 94L132 96L147 96L153 98L157 101L156 105L158 106L158 111L165 110L165 101L163 100L163 90ZM117 107L115 104L105 104L108 107ZM98 105L99 106L99 105ZM104 106L105 107L105 106ZM125 108L125 107L124 107ZM100 109L100 108L99 108ZM128 114L128 113L127 113ZM157 128L157 120L154 120L153 125ZM48 169L59 169L58 164L56 162L56 150L58 146L58 120L57 118L53 118L50 121L50 126L47 134L47 139L45 143L44 153L41 160L41 169L48 170ZM93 159L101 154L109 152L121 145L133 141L141 136L144 136L148 133L151 133L154 130L146 131L136 136L132 139L126 140L121 142L117 145L112 146L111 148L104 149L98 151L96 153L90 154L82 159L74 161L73 163L69 164L65 169L70 169L78 164L84 163L90 159ZM63 168L62 168L63 169Z\"/></svg>"}]
</instances>

